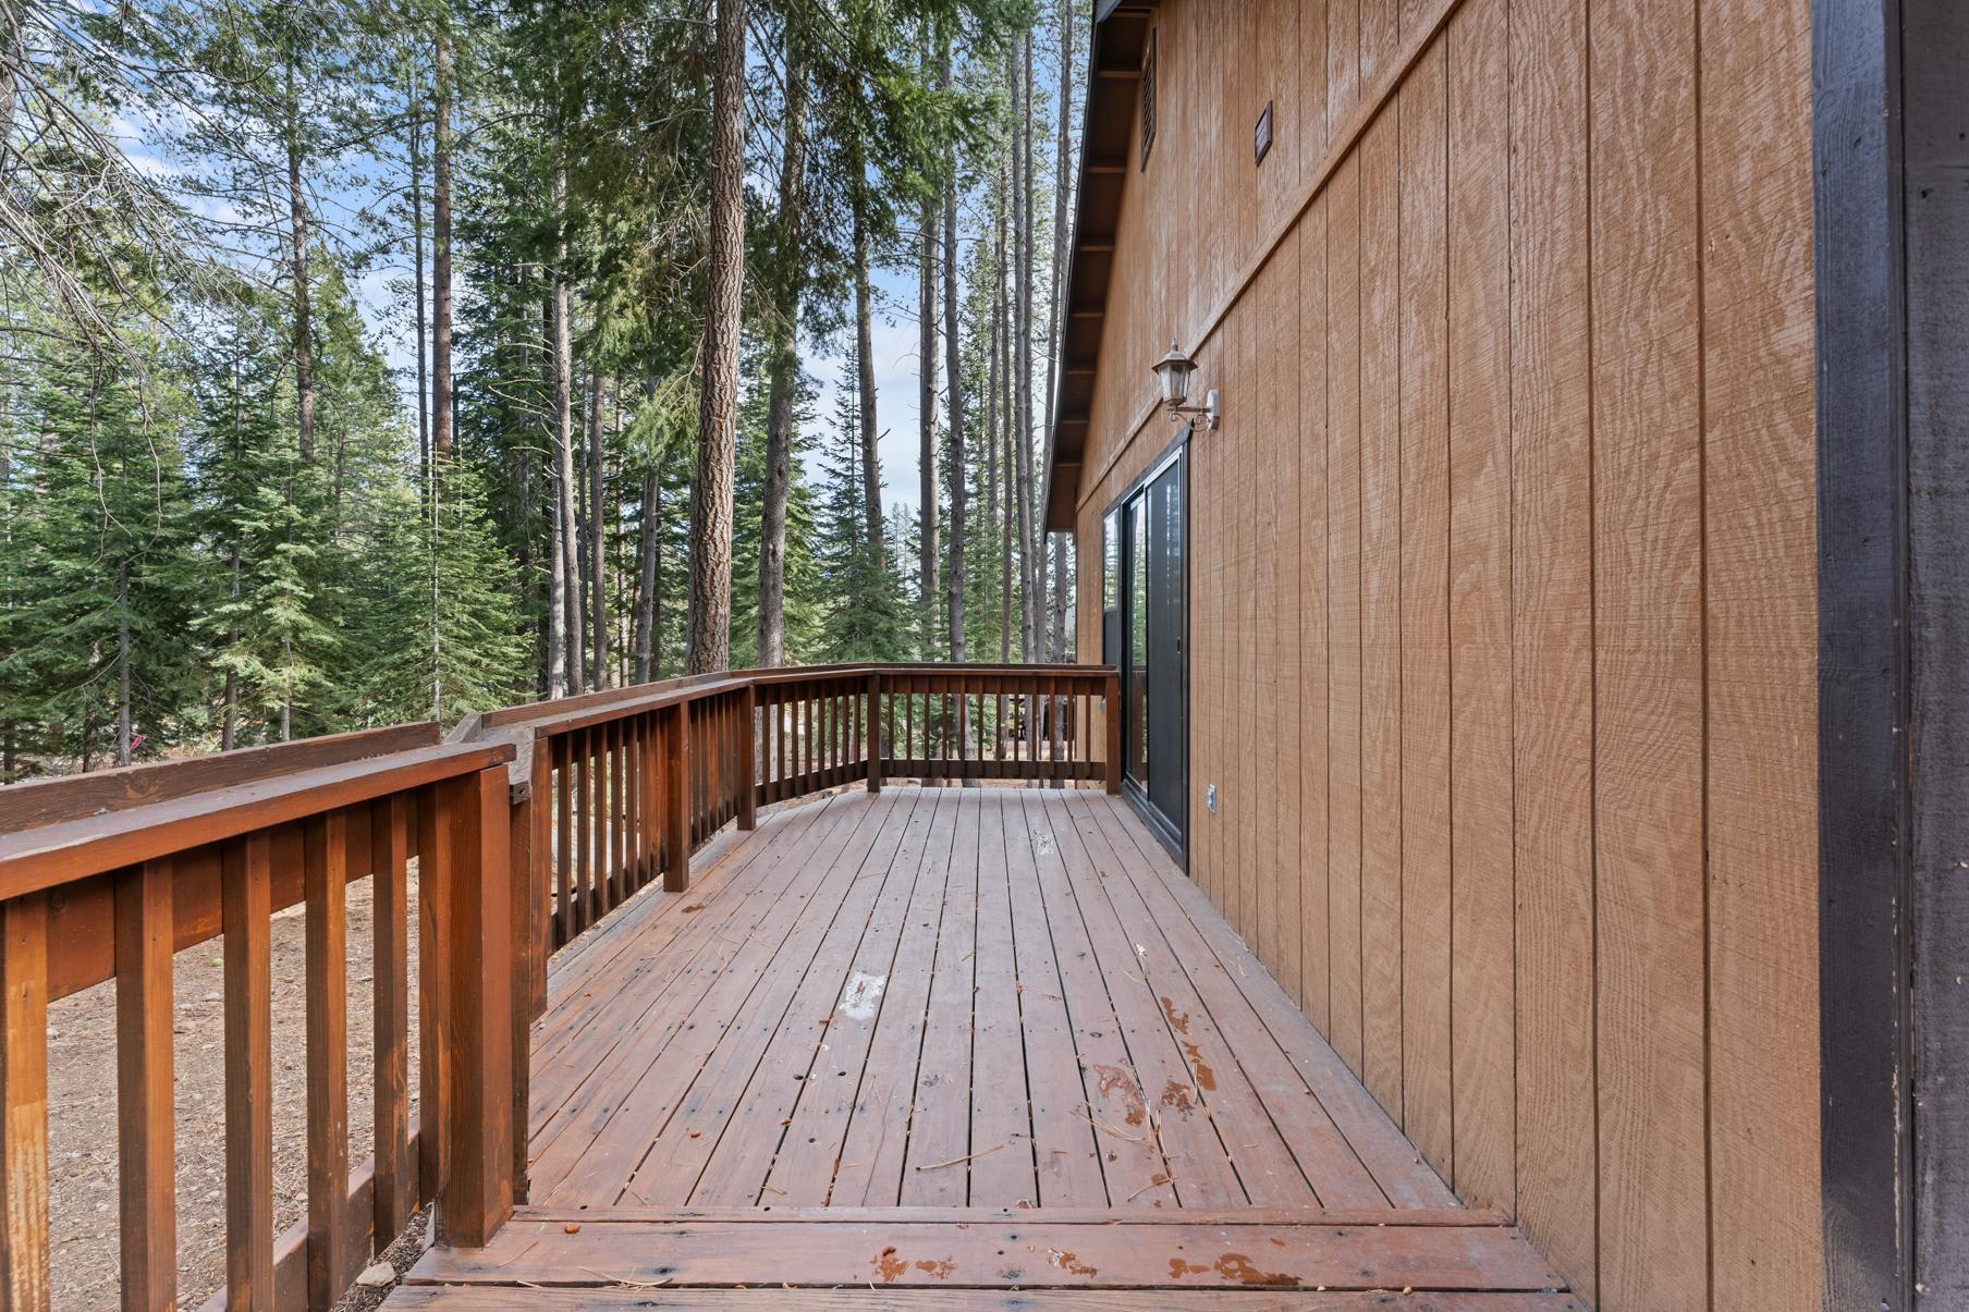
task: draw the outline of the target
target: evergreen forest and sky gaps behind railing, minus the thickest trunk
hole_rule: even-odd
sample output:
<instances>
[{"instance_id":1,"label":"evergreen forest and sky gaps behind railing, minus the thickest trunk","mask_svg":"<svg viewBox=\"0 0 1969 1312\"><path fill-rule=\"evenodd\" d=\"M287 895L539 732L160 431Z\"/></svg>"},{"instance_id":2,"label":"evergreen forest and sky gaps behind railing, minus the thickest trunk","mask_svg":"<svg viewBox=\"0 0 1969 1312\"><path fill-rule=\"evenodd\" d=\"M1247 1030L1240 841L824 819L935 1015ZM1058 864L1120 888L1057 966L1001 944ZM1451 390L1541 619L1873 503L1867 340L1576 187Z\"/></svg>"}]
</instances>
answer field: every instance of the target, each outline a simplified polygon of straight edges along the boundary
<instances>
[{"instance_id":1,"label":"evergreen forest and sky gaps behind railing, minus the thickest trunk","mask_svg":"<svg viewBox=\"0 0 1969 1312\"><path fill-rule=\"evenodd\" d=\"M920 522L884 504L918 471L868 477L900 398L857 384L900 309L874 284L943 205L961 386L927 394L965 437L923 483L963 506L971 658L1018 624L1014 451L1044 429L1010 343L1049 339L1008 309L1040 258L994 232L1048 244L1046 169L1004 160L1049 110L1008 77L1059 2L750 0L732 664L768 632L790 664L949 656ZM449 725L561 688L569 650L589 688L681 672L705 0L20 14L47 77L0 118L37 242L0 242L0 780Z\"/></svg>"}]
</instances>

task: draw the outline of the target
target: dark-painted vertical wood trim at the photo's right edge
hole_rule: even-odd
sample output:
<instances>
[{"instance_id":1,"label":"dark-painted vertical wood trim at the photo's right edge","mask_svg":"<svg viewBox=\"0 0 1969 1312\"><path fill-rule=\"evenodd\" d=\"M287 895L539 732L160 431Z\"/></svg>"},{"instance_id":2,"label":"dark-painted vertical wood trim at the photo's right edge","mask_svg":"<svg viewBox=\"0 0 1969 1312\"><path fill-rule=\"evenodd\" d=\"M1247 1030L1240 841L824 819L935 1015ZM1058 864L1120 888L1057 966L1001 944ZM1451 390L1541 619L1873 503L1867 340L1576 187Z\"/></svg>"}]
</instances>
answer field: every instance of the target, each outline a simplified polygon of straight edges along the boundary
<instances>
[{"instance_id":1,"label":"dark-painted vertical wood trim at the photo's right edge","mask_svg":"<svg viewBox=\"0 0 1969 1312\"><path fill-rule=\"evenodd\" d=\"M1813 0L1825 1306L1969 1306L1969 6Z\"/></svg>"}]
</instances>

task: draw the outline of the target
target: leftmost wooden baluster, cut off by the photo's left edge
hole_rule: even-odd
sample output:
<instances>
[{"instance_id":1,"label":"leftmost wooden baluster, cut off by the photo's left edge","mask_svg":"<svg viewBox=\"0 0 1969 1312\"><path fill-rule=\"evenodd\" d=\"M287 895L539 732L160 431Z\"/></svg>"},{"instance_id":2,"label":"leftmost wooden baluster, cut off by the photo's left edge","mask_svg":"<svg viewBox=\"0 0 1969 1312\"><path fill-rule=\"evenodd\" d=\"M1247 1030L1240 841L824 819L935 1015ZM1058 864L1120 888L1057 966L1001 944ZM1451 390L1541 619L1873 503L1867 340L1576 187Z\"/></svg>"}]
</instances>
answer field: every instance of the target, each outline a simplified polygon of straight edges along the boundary
<instances>
[{"instance_id":1,"label":"leftmost wooden baluster, cut off by the photo's left edge","mask_svg":"<svg viewBox=\"0 0 1969 1312\"><path fill-rule=\"evenodd\" d=\"M0 902L0 1302L47 1312L47 894Z\"/></svg>"}]
</instances>

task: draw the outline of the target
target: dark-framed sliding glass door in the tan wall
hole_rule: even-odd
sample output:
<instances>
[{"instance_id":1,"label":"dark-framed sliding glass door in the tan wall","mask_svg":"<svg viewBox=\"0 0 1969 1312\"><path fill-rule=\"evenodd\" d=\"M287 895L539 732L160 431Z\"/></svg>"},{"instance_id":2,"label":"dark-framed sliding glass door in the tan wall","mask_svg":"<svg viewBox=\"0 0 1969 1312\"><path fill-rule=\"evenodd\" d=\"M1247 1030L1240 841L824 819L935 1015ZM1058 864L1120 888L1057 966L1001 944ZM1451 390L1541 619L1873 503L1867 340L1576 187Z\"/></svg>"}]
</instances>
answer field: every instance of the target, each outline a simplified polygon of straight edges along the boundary
<instances>
[{"instance_id":1,"label":"dark-framed sliding glass door in the tan wall","mask_svg":"<svg viewBox=\"0 0 1969 1312\"><path fill-rule=\"evenodd\" d=\"M1128 792L1177 849L1189 788L1187 587L1183 561L1181 453L1154 471L1120 508L1118 652Z\"/></svg>"}]
</instances>

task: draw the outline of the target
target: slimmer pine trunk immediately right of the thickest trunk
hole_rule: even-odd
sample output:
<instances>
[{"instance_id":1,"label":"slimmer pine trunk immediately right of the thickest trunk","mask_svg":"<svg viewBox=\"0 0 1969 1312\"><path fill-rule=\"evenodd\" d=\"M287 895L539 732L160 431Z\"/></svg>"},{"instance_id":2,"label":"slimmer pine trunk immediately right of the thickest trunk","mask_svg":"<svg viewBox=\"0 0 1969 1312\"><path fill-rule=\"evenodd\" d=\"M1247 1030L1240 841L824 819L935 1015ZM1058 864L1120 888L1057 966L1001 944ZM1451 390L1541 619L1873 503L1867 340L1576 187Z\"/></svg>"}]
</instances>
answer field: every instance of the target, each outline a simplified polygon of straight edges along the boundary
<instances>
[{"instance_id":1,"label":"slimmer pine trunk immediately right of the thickest trunk","mask_svg":"<svg viewBox=\"0 0 1969 1312\"><path fill-rule=\"evenodd\" d=\"M797 28L790 45L797 41ZM786 664L786 498L794 483L794 372L799 368L799 294L805 282L807 71L786 61L786 144L780 152L778 313L766 406L766 487L758 534L758 664Z\"/></svg>"}]
</instances>

